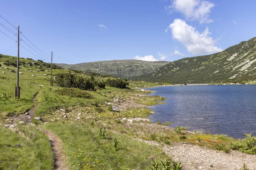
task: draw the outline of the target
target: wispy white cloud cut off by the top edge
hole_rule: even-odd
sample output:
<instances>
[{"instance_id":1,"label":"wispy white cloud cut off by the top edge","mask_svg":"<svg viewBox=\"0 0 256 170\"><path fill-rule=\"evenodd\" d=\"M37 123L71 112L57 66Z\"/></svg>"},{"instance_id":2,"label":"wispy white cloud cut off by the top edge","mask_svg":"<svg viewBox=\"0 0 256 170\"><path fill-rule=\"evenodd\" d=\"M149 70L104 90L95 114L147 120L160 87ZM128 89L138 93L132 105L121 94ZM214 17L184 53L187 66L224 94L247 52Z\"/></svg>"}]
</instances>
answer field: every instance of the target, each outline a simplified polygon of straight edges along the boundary
<instances>
[{"instance_id":1,"label":"wispy white cloud cut off by the top edge","mask_svg":"<svg viewBox=\"0 0 256 170\"><path fill-rule=\"evenodd\" d=\"M172 5L166 6L168 13L175 11L182 13L186 20L198 20L200 23L212 23L209 13L214 7L213 3L206 0L173 0Z\"/></svg>"}]
</instances>

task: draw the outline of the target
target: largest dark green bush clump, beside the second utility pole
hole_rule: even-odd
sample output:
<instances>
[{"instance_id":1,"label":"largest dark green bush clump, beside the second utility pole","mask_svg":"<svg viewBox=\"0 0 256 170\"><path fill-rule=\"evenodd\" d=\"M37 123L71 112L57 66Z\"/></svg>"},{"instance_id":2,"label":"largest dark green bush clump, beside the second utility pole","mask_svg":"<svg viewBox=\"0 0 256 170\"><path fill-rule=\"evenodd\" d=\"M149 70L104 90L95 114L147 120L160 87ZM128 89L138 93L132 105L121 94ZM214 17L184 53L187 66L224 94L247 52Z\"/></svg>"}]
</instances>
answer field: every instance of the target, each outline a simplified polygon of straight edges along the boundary
<instances>
[{"instance_id":1,"label":"largest dark green bush clump, beside the second utility pole","mask_svg":"<svg viewBox=\"0 0 256 170\"><path fill-rule=\"evenodd\" d=\"M55 82L60 87L94 91L94 85L90 79L83 79L83 77L70 73L58 73L56 76Z\"/></svg>"}]
</instances>

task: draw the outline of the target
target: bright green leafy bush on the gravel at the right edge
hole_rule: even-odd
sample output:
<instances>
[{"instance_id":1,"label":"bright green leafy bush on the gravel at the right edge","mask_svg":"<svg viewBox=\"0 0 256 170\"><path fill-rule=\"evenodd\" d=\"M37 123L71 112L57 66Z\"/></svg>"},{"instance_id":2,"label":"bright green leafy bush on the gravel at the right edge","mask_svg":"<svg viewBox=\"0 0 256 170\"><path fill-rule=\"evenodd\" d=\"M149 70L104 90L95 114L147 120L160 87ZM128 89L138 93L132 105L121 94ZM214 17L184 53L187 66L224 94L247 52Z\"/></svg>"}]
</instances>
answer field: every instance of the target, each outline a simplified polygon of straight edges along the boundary
<instances>
[{"instance_id":1,"label":"bright green leafy bush on the gravel at the right edge","mask_svg":"<svg viewBox=\"0 0 256 170\"><path fill-rule=\"evenodd\" d=\"M240 150L244 153L256 154L256 137L252 136L252 133L246 134L246 138L238 139L235 142L230 142L231 149Z\"/></svg>"}]
</instances>

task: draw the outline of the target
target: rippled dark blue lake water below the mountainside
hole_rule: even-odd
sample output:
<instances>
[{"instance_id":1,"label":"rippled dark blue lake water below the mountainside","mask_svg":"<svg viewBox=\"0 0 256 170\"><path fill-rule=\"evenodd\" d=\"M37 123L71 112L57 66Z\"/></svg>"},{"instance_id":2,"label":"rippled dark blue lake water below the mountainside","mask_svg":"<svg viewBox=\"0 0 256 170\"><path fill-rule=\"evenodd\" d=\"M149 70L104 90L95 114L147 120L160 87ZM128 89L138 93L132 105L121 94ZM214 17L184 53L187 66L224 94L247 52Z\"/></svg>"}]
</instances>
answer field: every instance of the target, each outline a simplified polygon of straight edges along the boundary
<instances>
[{"instance_id":1,"label":"rippled dark blue lake water below the mountainside","mask_svg":"<svg viewBox=\"0 0 256 170\"><path fill-rule=\"evenodd\" d=\"M192 85L148 88L150 95L166 97L165 104L150 106L153 122L173 122L189 130L244 138L256 136L256 85Z\"/></svg>"}]
</instances>

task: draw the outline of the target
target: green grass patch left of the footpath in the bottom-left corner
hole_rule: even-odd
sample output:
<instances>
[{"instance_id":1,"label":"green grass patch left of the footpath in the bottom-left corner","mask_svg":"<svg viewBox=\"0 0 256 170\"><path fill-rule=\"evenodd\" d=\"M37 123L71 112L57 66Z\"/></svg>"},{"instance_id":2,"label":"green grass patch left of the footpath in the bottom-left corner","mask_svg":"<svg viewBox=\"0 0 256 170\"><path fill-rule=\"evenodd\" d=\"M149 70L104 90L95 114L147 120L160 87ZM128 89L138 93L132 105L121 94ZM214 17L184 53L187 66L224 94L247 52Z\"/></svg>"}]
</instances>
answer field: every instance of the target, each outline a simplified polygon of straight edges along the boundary
<instances>
[{"instance_id":1,"label":"green grass patch left of the footpath in the bottom-left corner","mask_svg":"<svg viewBox=\"0 0 256 170\"><path fill-rule=\"evenodd\" d=\"M0 127L0 169L53 170L53 153L47 136L29 125L20 125L17 131L28 137Z\"/></svg>"}]
</instances>

